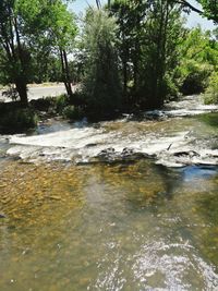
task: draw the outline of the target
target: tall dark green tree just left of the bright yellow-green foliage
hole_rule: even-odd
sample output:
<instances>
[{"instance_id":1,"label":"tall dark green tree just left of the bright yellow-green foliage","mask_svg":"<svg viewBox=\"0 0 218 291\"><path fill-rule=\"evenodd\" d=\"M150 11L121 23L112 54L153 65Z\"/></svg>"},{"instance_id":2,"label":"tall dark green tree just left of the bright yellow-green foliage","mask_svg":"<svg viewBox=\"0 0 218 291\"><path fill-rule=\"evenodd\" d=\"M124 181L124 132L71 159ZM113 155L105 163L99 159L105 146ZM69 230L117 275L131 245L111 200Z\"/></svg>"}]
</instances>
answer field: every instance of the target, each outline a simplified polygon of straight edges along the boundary
<instances>
[{"instance_id":1,"label":"tall dark green tree just left of the bright yellow-green foliage","mask_svg":"<svg viewBox=\"0 0 218 291\"><path fill-rule=\"evenodd\" d=\"M174 69L179 63L179 48L183 37L181 11L167 0L150 7L145 25L142 87L146 90L144 107L160 107L168 95L177 94ZM141 93L142 94L142 93Z\"/></svg>"}]
</instances>

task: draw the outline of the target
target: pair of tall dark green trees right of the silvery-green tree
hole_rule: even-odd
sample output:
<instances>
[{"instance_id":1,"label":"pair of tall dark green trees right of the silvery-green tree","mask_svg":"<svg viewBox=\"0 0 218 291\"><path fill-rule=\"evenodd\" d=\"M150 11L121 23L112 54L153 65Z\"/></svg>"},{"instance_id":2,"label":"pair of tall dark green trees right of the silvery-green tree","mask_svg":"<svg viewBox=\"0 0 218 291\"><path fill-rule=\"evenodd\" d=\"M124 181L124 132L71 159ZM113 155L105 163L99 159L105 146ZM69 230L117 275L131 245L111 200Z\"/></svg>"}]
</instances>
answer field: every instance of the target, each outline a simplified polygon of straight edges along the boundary
<instances>
[{"instance_id":1,"label":"pair of tall dark green trees right of the silvery-green tree","mask_svg":"<svg viewBox=\"0 0 218 291\"><path fill-rule=\"evenodd\" d=\"M183 36L180 9L169 1L116 0L111 13L118 17L123 95L140 108L160 107L171 94L179 46Z\"/></svg>"}]
</instances>

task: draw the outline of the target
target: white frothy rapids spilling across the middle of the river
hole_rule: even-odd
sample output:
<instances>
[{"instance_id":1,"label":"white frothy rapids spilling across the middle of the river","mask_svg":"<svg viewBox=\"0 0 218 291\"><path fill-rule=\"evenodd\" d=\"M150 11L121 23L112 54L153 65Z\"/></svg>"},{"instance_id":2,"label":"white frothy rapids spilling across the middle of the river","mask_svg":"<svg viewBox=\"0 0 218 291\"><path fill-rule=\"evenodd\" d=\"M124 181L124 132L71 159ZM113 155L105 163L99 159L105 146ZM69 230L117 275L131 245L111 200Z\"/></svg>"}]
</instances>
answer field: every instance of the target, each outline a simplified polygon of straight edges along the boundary
<instances>
[{"instance_id":1,"label":"white frothy rapids spilling across the middle of the river","mask_svg":"<svg viewBox=\"0 0 218 291\"><path fill-rule=\"evenodd\" d=\"M213 117L214 119L208 119ZM11 136L8 154L25 161L123 160L150 156L168 167L218 165L218 113L161 120L116 120L97 124L39 128L27 136Z\"/></svg>"}]
</instances>

